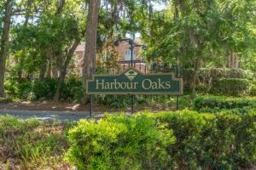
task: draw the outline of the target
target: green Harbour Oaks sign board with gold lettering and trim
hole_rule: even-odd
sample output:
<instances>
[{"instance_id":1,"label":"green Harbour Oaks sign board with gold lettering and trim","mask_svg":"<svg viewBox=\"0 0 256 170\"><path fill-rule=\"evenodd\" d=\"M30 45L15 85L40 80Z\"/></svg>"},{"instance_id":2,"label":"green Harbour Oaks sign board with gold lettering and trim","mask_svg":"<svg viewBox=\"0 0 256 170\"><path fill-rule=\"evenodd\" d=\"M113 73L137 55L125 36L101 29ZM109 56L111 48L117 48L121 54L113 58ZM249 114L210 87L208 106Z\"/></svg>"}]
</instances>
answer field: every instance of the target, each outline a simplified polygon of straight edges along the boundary
<instances>
[{"instance_id":1,"label":"green Harbour Oaks sign board with gold lettering and trim","mask_svg":"<svg viewBox=\"0 0 256 170\"><path fill-rule=\"evenodd\" d=\"M131 67L119 75L93 75L86 94L183 94L183 79L172 73L143 74Z\"/></svg>"}]
</instances>

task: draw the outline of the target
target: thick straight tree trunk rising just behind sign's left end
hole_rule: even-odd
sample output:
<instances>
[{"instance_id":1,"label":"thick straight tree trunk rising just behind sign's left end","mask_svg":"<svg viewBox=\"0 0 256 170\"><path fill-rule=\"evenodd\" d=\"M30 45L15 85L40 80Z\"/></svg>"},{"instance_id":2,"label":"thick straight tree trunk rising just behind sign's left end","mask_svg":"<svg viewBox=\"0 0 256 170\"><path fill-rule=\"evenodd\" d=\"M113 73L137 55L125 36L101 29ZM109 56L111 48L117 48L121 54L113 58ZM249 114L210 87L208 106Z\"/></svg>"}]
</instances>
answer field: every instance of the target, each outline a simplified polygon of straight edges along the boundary
<instances>
[{"instance_id":1,"label":"thick straight tree trunk rising just behind sign's left end","mask_svg":"<svg viewBox=\"0 0 256 170\"><path fill-rule=\"evenodd\" d=\"M83 88L86 87L86 81L90 79L91 69L96 66L96 29L98 24L98 15L101 0L89 1L89 13L87 17L87 26L85 33L85 51L84 51L84 68L83 68ZM82 103L88 101L88 95L84 94Z\"/></svg>"}]
</instances>

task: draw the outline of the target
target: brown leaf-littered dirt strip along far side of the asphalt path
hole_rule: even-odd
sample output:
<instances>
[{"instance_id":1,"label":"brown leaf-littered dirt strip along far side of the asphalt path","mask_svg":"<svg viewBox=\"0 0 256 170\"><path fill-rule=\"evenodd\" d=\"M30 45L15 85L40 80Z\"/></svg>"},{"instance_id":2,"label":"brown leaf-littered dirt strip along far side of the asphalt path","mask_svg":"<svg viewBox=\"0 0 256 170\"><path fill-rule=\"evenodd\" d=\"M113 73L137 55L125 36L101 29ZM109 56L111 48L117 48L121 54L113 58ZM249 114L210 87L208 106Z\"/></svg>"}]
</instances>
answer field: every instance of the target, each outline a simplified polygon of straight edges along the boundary
<instances>
[{"instance_id":1,"label":"brown leaf-littered dirt strip along far side of the asphalt path","mask_svg":"<svg viewBox=\"0 0 256 170\"><path fill-rule=\"evenodd\" d=\"M21 111L90 111L90 105L80 105L68 102L55 103L54 101L20 101L20 102L0 102L0 110L21 110ZM151 108L146 105L135 106L136 111L151 110L151 111L170 111L173 108L170 107L158 107ZM114 109L108 108L104 105L93 105L93 111L100 112L113 112L113 111L131 111L131 108Z\"/></svg>"}]
</instances>

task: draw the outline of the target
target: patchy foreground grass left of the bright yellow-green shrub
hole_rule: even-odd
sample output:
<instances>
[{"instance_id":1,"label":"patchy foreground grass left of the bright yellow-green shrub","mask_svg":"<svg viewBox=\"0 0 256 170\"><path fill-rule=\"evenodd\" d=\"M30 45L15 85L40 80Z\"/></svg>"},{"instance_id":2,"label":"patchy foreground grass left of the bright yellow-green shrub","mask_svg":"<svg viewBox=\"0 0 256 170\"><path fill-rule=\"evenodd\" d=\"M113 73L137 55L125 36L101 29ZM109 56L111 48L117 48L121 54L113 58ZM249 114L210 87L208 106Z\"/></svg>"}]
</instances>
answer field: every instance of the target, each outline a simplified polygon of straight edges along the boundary
<instances>
[{"instance_id":1,"label":"patchy foreground grass left of the bright yellow-green shrub","mask_svg":"<svg viewBox=\"0 0 256 170\"><path fill-rule=\"evenodd\" d=\"M63 160L73 123L0 116L0 169L68 169Z\"/></svg>"}]
</instances>

